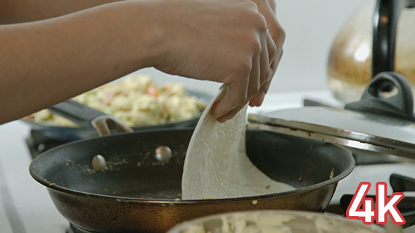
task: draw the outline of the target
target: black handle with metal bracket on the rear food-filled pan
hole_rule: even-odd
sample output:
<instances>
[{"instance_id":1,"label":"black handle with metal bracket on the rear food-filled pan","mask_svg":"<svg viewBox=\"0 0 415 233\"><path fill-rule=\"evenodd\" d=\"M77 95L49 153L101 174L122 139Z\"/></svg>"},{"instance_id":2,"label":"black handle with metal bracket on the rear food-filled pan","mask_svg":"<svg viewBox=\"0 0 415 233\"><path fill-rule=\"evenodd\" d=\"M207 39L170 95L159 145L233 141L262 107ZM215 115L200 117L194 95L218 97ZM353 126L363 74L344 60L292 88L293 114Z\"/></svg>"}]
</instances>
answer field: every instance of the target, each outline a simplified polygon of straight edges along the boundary
<instances>
[{"instance_id":1,"label":"black handle with metal bracket on the rear food-filled pan","mask_svg":"<svg viewBox=\"0 0 415 233\"><path fill-rule=\"evenodd\" d=\"M110 116L73 100L60 102L49 107L49 110L54 114L74 121L83 128L95 129L100 136L109 135L111 131L117 133L133 131L132 128L115 116Z\"/></svg>"}]
</instances>

